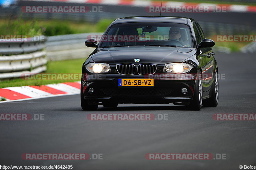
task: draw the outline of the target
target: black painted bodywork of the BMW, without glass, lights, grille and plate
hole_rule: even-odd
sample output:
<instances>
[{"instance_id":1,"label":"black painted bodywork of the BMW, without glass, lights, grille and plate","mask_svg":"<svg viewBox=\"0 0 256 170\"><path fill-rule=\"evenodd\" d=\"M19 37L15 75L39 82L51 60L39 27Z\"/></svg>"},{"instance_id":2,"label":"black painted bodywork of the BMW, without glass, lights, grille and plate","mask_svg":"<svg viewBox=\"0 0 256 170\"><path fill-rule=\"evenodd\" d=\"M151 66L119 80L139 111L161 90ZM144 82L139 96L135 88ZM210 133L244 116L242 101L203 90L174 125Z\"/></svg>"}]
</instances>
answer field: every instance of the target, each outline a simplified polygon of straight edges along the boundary
<instances>
[{"instance_id":1,"label":"black painted bodywork of the BMW, without glass, lights, grille and plate","mask_svg":"<svg viewBox=\"0 0 256 170\"><path fill-rule=\"evenodd\" d=\"M203 99L211 97L214 81L214 73L217 72L217 62L214 59L212 48L197 48L200 39L204 39L199 24L190 18L182 17L126 17L116 19L107 28L118 23L133 22L168 22L180 23L189 26L193 48L186 47L162 47L162 46L124 46L124 47L98 47L90 54L82 67L82 92L84 99L90 104L104 102L114 103L176 103L190 102L194 97L195 77L197 73L203 73ZM197 34L197 37L196 37ZM199 36L198 36L199 34ZM140 62L134 62L134 59ZM88 63L107 63L111 72L90 73L85 69ZM185 76L175 73L163 73L167 63L189 63L193 65ZM152 75L140 75L136 70L132 75L122 75L117 71L118 64L133 64L138 68L139 64L156 64L156 72ZM154 79L153 87L119 87L119 79ZM92 94L88 92L93 88ZM181 93L182 88L187 88L186 94ZM186 104L184 104L186 105Z\"/></svg>"}]
</instances>

